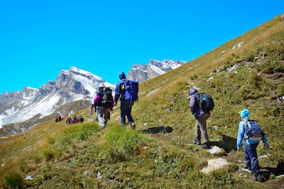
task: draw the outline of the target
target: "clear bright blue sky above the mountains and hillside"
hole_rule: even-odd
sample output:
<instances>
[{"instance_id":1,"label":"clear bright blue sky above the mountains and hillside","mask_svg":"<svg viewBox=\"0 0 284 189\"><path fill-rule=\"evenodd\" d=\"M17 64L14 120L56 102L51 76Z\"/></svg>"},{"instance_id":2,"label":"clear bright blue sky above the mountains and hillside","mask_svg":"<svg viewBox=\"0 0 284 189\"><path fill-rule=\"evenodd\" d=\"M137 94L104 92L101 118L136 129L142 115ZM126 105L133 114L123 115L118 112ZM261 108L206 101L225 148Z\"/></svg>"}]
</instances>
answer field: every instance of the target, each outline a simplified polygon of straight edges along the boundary
<instances>
[{"instance_id":1,"label":"clear bright blue sky above the mountains and hillside","mask_svg":"<svg viewBox=\"0 0 284 189\"><path fill-rule=\"evenodd\" d=\"M193 60L283 14L284 1L0 2L0 95L81 68L117 83L132 64Z\"/></svg>"}]
</instances>

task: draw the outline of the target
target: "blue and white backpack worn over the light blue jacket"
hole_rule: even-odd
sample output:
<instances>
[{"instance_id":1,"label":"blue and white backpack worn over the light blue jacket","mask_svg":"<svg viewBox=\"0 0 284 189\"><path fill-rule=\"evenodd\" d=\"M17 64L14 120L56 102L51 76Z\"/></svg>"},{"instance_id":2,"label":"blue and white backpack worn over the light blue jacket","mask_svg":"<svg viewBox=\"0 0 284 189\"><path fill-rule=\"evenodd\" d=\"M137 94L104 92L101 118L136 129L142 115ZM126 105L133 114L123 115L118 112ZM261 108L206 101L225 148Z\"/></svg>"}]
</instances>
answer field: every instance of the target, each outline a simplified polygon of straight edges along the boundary
<instances>
[{"instance_id":1,"label":"blue and white backpack worn over the light blue jacket","mask_svg":"<svg viewBox=\"0 0 284 189\"><path fill-rule=\"evenodd\" d=\"M244 125L244 138L248 140L261 140L263 136L265 136L263 130L259 125L257 124L256 121L253 120L243 120L245 121Z\"/></svg>"}]
</instances>

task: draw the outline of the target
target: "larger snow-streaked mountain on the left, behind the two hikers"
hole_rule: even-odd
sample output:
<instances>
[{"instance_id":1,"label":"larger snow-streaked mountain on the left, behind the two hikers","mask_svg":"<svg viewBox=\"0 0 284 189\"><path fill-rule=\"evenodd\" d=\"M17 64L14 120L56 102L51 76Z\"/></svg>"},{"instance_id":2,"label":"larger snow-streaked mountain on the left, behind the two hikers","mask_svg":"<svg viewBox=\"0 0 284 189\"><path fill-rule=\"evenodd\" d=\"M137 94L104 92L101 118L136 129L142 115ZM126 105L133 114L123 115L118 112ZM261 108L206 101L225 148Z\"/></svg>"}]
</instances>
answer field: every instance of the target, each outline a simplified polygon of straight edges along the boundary
<instances>
[{"instance_id":1,"label":"larger snow-streaked mountain on the left, behind the two hikers","mask_svg":"<svg viewBox=\"0 0 284 189\"><path fill-rule=\"evenodd\" d=\"M32 118L44 118L73 101L88 100L91 103L95 90L102 83L115 88L101 77L71 66L69 71L60 71L56 81L49 81L39 89L26 87L21 91L5 92L0 95L0 128Z\"/></svg>"}]
</instances>

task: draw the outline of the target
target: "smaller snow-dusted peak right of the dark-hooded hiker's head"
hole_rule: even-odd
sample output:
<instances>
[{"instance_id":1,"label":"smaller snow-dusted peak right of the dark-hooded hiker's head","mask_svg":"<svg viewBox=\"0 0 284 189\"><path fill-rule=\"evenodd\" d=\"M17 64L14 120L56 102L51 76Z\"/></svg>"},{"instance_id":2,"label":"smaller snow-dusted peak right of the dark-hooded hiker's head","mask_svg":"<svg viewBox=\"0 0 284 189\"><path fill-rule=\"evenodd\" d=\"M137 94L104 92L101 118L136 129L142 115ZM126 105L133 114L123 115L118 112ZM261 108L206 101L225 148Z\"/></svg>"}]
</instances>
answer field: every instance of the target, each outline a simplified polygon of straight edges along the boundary
<instances>
[{"instance_id":1,"label":"smaller snow-dusted peak right of the dark-hooded hiker's head","mask_svg":"<svg viewBox=\"0 0 284 189\"><path fill-rule=\"evenodd\" d=\"M182 64L185 64L185 61L179 60L150 60L149 64L134 64L128 73L127 78L139 83L151 79L167 71L178 68Z\"/></svg>"}]
</instances>

